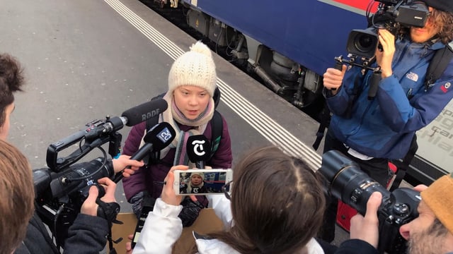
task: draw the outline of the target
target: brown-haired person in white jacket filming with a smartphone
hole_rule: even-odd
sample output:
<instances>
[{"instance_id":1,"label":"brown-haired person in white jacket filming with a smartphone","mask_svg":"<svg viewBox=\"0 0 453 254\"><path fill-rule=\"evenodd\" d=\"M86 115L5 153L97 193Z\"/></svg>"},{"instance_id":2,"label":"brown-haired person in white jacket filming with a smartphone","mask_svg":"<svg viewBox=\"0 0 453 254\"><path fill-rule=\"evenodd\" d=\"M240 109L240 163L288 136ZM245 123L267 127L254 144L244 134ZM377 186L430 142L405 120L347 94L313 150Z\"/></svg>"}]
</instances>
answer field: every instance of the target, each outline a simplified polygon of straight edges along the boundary
<instances>
[{"instance_id":1,"label":"brown-haired person in white jacket filming with a smartphone","mask_svg":"<svg viewBox=\"0 0 453 254\"><path fill-rule=\"evenodd\" d=\"M133 253L171 253L183 229L181 196L173 191L176 166L168 172ZM324 253L314 239L325 200L321 180L307 164L275 146L248 153L234 167L231 193L208 195L226 226L209 236L194 232L198 253ZM231 203L230 203L231 202ZM231 209L230 209L231 207Z\"/></svg>"}]
</instances>

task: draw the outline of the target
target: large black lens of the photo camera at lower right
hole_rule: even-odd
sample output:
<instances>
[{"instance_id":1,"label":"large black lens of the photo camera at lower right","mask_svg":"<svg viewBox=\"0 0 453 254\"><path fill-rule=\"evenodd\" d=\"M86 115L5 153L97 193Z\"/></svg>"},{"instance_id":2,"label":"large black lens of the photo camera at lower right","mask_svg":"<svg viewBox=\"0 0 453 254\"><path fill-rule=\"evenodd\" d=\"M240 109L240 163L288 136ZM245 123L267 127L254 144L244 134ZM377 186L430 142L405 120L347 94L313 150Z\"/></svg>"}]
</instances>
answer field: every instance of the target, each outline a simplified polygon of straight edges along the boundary
<instances>
[{"instance_id":1,"label":"large black lens of the photo camera at lower right","mask_svg":"<svg viewBox=\"0 0 453 254\"><path fill-rule=\"evenodd\" d=\"M374 191L382 193L383 203L388 202L390 192L360 170L348 157L336 150L323 154L321 173L329 183L330 193L365 214L367 201Z\"/></svg>"}]
</instances>

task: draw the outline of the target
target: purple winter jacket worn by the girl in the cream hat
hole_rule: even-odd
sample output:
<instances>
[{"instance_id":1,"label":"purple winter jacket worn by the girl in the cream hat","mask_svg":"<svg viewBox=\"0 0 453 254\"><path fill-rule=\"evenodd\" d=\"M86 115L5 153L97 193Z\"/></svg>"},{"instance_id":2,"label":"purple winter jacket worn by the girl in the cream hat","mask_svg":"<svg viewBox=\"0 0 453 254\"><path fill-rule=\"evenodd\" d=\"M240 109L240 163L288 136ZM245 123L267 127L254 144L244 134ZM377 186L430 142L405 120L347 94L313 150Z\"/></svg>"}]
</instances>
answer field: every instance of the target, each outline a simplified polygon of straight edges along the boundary
<instances>
[{"instance_id":1,"label":"purple winter jacket worn by the girl in the cream hat","mask_svg":"<svg viewBox=\"0 0 453 254\"><path fill-rule=\"evenodd\" d=\"M214 153L210 161L206 162L207 166L212 167L213 169L231 169L231 163L233 161L233 155L231 154L231 139L229 136L228 126L226 121L222 116L223 121L223 131L222 139L219 143L219 148ZM178 126L181 131L188 131L192 126L184 126L178 123ZM139 123L138 125L132 127L125 146L123 147L122 154L132 156L134 152L139 150L140 143L142 141L144 130L147 127L146 122ZM211 122L207 123L205 137L211 141ZM162 192L162 184L154 182L162 182L165 179L168 171L173 165L173 160L175 157L176 148L171 148L168 151L168 154L161 159L159 164L151 164L149 166L144 166L140 168L135 174L131 175L128 178L122 179L122 185L125 190L125 195L128 201L140 191L147 190L149 195L153 198L159 198Z\"/></svg>"}]
</instances>

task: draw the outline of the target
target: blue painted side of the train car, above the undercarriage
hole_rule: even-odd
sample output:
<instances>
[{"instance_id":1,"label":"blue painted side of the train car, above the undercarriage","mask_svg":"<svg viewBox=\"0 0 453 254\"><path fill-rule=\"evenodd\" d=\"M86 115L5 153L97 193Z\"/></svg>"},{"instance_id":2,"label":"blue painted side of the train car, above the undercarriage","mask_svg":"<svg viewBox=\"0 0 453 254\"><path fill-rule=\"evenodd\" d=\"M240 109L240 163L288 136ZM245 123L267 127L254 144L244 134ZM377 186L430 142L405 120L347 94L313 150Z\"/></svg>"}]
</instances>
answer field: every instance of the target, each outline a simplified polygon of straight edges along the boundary
<instances>
[{"instance_id":1,"label":"blue painted side of the train car, above the undercarriage","mask_svg":"<svg viewBox=\"0 0 453 254\"><path fill-rule=\"evenodd\" d=\"M241 32L248 46L255 40L318 74L334 65L335 56L345 54L350 30L367 27L365 10L338 1L183 2L217 20L210 22L224 23ZM208 29L211 28L215 29L215 25ZM257 59L253 53L249 48L251 61Z\"/></svg>"}]
</instances>

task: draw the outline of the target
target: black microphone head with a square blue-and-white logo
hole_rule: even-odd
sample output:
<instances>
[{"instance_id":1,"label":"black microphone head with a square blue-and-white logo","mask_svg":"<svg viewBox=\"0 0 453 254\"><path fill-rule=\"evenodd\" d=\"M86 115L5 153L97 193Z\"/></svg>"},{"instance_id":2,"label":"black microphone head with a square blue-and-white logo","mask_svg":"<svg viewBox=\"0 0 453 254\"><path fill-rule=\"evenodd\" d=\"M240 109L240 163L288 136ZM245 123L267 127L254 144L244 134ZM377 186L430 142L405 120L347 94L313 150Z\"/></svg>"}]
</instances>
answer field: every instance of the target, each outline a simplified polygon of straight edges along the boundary
<instances>
[{"instance_id":1,"label":"black microphone head with a square blue-and-white logo","mask_svg":"<svg viewBox=\"0 0 453 254\"><path fill-rule=\"evenodd\" d=\"M145 143L153 144L153 151L160 151L175 139L176 131L171 127L170 123L161 122L156 124L147 135L144 135L143 141Z\"/></svg>"}]
</instances>

